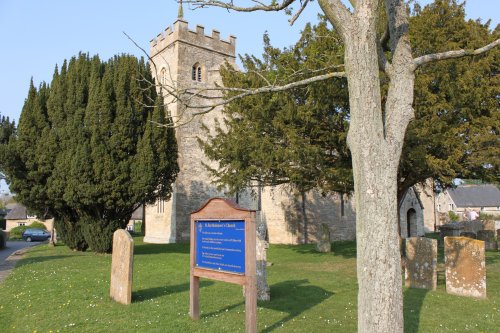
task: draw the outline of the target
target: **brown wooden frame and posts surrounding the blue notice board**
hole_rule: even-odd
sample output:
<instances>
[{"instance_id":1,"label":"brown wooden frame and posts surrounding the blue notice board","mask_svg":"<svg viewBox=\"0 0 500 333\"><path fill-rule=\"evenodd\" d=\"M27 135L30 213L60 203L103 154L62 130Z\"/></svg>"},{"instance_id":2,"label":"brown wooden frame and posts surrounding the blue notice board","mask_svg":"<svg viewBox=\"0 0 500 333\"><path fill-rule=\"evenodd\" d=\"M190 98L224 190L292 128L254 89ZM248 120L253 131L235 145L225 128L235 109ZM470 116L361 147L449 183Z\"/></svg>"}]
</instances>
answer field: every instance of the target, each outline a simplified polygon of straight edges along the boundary
<instances>
[{"instance_id":1,"label":"brown wooden frame and posts surrounding the blue notice board","mask_svg":"<svg viewBox=\"0 0 500 333\"><path fill-rule=\"evenodd\" d=\"M245 223L245 274L243 275L196 267L196 222L224 220L239 220ZM191 214L189 315L192 319L200 318L200 278L235 283L245 286L245 331L247 333L257 332L255 228L254 210L241 208L232 201L223 198L210 199L199 210Z\"/></svg>"}]
</instances>

